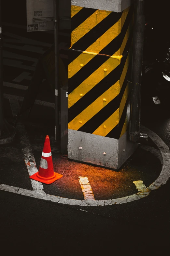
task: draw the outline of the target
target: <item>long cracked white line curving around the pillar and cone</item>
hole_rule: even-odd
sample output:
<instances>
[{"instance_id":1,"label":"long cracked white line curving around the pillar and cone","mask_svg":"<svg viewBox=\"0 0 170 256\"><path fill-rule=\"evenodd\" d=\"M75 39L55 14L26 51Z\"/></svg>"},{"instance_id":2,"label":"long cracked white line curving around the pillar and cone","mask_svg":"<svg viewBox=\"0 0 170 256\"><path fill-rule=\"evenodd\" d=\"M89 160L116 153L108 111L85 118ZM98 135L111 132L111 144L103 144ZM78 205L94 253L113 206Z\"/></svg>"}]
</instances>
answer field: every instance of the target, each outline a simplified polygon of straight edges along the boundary
<instances>
[{"instance_id":1,"label":"long cracked white line curving around the pillar and cone","mask_svg":"<svg viewBox=\"0 0 170 256\"><path fill-rule=\"evenodd\" d=\"M149 195L150 190L158 189L161 185L165 184L170 177L170 150L168 146L163 142L163 140L153 131L148 128L141 126L141 130L148 134L151 140L158 146L160 152L163 157L163 167L162 171L153 183L149 185L148 188L145 187L142 180L134 181L136 188L138 189L138 193L131 196L124 196L116 199L109 200L77 200L77 199L69 199L60 196L53 196L45 193L39 193L33 190L27 190L23 188L13 187L5 184L0 184L0 190L21 194L24 196L31 196L38 199L48 200L51 202L68 204L68 205L79 205L79 206L105 206L105 205L115 205L115 204L123 204L127 202L132 202L134 200L138 200L140 198L144 198Z\"/></svg>"}]
</instances>

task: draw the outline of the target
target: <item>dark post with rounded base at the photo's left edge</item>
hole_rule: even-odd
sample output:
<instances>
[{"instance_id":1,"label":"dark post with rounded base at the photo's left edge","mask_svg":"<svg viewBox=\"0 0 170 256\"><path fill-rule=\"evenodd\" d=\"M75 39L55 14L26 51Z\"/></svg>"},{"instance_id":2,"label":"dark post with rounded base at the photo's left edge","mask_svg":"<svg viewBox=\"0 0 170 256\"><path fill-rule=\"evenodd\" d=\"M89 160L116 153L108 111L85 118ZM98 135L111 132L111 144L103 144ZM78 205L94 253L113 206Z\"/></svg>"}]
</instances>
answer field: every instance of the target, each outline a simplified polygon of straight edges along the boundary
<instances>
[{"instance_id":1,"label":"dark post with rounded base at the photo's left edge","mask_svg":"<svg viewBox=\"0 0 170 256\"><path fill-rule=\"evenodd\" d=\"M3 37L2 37L2 5L0 0L0 144L11 142L16 134L16 129L9 125L4 118L3 109Z\"/></svg>"}]
</instances>

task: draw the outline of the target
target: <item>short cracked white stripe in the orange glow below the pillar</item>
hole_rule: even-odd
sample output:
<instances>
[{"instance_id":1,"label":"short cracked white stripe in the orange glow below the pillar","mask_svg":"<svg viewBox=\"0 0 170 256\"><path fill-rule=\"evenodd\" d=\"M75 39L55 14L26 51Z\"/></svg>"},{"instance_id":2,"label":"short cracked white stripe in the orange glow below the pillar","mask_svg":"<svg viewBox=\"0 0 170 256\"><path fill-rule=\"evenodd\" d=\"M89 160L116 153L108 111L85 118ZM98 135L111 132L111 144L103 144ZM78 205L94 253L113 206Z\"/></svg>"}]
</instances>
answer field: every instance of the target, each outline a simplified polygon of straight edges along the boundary
<instances>
[{"instance_id":1,"label":"short cracked white stripe in the orange glow below the pillar","mask_svg":"<svg viewBox=\"0 0 170 256\"><path fill-rule=\"evenodd\" d=\"M87 177L78 177L85 200L95 200L92 187Z\"/></svg>"}]
</instances>

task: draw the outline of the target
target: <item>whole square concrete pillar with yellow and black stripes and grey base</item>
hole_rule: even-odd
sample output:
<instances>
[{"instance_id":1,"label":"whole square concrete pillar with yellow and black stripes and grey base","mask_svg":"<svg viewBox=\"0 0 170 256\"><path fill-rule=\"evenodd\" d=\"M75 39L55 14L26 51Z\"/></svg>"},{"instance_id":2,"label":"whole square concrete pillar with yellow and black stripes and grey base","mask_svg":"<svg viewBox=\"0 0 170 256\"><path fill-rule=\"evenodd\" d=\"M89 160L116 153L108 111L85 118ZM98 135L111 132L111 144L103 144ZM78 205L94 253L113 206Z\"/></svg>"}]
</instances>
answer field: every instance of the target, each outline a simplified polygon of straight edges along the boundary
<instances>
[{"instance_id":1,"label":"whole square concrete pillar with yellow and black stripes and grey base","mask_svg":"<svg viewBox=\"0 0 170 256\"><path fill-rule=\"evenodd\" d=\"M128 141L134 4L72 0L68 65L68 158L118 169Z\"/></svg>"}]
</instances>

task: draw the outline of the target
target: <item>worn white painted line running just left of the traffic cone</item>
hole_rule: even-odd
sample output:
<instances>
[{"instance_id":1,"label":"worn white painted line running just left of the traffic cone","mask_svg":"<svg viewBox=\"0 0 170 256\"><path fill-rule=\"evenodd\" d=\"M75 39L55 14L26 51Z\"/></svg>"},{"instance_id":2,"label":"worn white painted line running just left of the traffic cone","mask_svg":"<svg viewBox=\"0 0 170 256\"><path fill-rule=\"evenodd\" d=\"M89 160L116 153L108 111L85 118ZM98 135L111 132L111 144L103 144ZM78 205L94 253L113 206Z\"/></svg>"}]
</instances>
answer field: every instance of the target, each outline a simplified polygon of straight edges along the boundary
<instances>
[{"instance_id":1,"label":"worn white painted line running just left of the traffic cone","mask_svg":"<svg viewBox=\"0 0 170 256\"><path fill-rule=\"evenodd\" d=\"M24 161L25 161L29 176L31 176L36 172L38 172L38 170L36 168L35 158L34 158L34 154L32 152L32 148L28 139L27 131L25 130L24 125L21 123L18 123L16 125L16 128L20 136L22 152L25 157ZM30 180L31 180L31 184L34 191L44 193L44 188L41 182L38 182L33 179L30 179Z\"/></svg>"}]
</instances>

